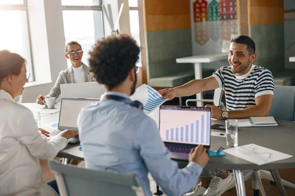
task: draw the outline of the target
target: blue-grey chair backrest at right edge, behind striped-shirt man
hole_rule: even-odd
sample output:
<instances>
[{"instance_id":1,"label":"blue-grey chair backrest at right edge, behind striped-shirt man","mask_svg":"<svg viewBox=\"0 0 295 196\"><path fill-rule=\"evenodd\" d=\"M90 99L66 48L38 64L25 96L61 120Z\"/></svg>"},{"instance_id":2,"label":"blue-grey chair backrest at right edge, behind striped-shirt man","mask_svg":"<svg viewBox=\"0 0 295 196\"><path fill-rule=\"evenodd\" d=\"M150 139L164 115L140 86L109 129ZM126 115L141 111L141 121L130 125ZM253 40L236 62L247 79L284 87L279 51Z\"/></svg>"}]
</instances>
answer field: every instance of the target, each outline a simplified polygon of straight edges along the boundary
<instances>
[{"instance_id":1,"label":"blue-grey chair backrest at right edge, behind striped-shirt man","mask_svg":"<svg viewBox=\"0 0 295 196\"><path fill-rule=\"evenodd\" d=\"M295 86L274 85L274 97L269 116L295 121Z\"/></svg>"}]
</instances>

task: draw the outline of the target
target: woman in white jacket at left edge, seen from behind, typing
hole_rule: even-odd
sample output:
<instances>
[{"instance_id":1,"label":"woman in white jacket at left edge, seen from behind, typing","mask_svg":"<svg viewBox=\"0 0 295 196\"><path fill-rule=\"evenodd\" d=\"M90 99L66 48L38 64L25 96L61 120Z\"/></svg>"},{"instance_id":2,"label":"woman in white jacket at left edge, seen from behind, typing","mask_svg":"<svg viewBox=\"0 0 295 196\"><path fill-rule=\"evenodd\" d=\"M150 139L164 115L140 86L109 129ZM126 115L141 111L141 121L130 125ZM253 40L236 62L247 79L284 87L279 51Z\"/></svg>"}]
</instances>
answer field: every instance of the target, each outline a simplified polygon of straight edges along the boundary
<instances>
[{"instance_id":1,"label":"woman in white jacket at left edge, seen from behind, typing","mask_svg":"<svg viewBox=\"0 0 295 196\"><path fill-rule=\"evenodd\" d=\"M55 196L54 188L42 181L39 158L54 158L77 131L65 130L47 140L38 131L29 108L14 99L23 94L29 80L26 60L0 50L0 196ZM47 132L48 133L48 132ZM51 182L55 187L56 182Z\"/></svg>"}]
</instances>

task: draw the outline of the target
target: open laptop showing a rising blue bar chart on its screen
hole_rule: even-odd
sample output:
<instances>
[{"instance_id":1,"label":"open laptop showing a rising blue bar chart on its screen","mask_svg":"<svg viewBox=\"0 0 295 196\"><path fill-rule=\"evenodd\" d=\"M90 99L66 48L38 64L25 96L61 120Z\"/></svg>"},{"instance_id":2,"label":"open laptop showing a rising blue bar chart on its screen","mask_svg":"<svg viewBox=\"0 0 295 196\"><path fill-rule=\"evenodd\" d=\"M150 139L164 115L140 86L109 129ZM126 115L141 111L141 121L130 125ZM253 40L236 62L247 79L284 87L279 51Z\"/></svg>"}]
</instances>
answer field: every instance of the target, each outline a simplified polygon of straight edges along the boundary
<instances>
[{"instance_id":1,"label":"open laptop showing a rising blue bar chart on its screen","mask_svg":"<svg viewBox=\"0 0 295 196\"><path fill-rule=\"evenodd\" d=\"M210 148L210 108L161 105L159 119L159 133L172 159L188 160L198 145Z\"/></svg>"}]
</instances>

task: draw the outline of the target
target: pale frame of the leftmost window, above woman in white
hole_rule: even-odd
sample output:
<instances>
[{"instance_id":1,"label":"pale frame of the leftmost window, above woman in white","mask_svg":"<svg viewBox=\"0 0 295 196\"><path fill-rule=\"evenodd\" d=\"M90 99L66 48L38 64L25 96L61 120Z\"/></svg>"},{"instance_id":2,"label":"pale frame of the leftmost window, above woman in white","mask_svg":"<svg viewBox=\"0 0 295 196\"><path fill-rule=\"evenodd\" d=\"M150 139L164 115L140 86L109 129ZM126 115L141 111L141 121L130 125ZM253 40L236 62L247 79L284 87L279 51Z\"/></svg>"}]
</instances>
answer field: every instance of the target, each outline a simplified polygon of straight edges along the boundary
<instances>
[{"instance_id":1,"label":"pale frame of the leftmost window, above woman in white","mask_svg":"<svg viewBox=\"0 0 295 196\"><path fill-rule=\"evenodd\" d=\"M27 28L28 28L28 41L29 41L29 57L30 57L30 70L31 70L31 81L29 82L34 82L35 81L35 73L34 73L34 62L33 62L33 54L32 54L32 43L31 43L31 33L30 33L30 28L29 28L29 11L28 11L28 3L27 0L24 0L23 4L5 4L5 5L0 5L0 11L7 11L7 10L14 10L14 11L26 11L26 16L27 16Z\"/></svg>"}]
</instances>

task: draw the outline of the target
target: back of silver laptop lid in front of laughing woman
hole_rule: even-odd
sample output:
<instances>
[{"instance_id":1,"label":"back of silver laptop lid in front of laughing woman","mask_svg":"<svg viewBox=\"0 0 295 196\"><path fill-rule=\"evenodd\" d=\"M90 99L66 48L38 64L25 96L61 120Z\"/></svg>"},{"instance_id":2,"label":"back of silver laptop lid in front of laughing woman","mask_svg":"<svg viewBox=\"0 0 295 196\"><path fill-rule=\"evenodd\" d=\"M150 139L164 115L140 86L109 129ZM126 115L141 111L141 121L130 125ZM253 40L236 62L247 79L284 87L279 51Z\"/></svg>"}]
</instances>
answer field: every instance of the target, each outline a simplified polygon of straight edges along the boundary
<instances>
[{"instance_id":1,"label":"back of silver laptop lid in front of laughing woman","mask_svg":"<svg viewBox=\"0 0 295 196\"><path fill-rule=\"evenodd\" d=\"M100 98L105 92L103 85L97 82L60 84L62 98Z\"/></svg>"}]
</instances>

